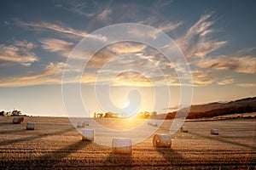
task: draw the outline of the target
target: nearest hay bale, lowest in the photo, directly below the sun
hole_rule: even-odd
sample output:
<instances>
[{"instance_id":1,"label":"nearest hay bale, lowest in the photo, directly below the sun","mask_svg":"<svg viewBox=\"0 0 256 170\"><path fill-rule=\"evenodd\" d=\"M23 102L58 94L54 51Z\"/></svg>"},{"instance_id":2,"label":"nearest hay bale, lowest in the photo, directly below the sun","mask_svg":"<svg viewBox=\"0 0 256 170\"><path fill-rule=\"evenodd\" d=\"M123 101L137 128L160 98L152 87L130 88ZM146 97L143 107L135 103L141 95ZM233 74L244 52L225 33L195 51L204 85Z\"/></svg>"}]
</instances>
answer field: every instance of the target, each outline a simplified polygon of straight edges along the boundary
<instances>
[{"instance_id":1,"label":"nearest hay bale, lowest in the photo, directly below the sun","mask_svg":"<svg viewBox=\"0 0 256 170\"><path fill-rule=\"evenodd\" d=\"M113 138L112 140L113 154L131 155L132 143L130 138Z\"/></svg>"}]
</instances>

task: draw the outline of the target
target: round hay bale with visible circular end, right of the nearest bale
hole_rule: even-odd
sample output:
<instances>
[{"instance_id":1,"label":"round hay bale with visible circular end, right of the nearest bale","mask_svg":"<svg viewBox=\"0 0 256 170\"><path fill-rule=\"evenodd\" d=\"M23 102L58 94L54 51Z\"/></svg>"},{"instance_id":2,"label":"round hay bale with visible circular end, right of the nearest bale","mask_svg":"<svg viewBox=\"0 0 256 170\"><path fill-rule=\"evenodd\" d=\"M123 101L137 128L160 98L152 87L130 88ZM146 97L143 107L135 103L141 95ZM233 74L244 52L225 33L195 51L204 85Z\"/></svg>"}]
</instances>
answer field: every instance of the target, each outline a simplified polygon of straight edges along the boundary
<instances>
[{"instance_id":1,"label":"round hay bale with visible circular end, right of the nearest bale","mask_svg":"<svg viewBox=\"0 0 256 170\"><path fill-rule=\"evenodd\" d=\"M154 134L153 146L157 148L171 148L172 139L169 134Z\"/></svg>"}]
</instances>

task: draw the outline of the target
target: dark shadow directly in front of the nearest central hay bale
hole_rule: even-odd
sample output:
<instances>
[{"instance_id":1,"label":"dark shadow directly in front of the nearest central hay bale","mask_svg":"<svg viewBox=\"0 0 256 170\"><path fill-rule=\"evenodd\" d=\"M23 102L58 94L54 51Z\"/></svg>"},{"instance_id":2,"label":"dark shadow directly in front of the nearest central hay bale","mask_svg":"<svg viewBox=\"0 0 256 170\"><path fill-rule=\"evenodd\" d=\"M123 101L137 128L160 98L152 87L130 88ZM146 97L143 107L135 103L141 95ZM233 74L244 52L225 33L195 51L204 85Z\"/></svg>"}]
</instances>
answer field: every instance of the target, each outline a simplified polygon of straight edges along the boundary
<instances>
[{"instance_id":1,"label":"dark shadow directly in front of the nearest central hay bale","mask_svg":"<svg viewBox=\"0 0 256 170\"><path fill-rule=\"evenodd\" d=\"M107 160L104 162L104 167L124 167L124 169L131 169L132 156L131 155L114 155L110 153Z\"/></svg>"}]
</instances>

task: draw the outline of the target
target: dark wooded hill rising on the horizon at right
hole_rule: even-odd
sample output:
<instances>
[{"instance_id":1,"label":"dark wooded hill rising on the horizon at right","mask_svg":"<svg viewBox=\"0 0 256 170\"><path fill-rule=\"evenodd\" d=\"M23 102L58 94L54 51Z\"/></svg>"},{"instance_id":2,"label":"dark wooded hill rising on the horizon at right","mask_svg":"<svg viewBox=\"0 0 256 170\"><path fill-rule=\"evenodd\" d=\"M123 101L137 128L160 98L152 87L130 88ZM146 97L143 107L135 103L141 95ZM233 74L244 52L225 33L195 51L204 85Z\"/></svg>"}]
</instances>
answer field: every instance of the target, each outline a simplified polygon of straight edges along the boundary
<instances>
[{"instance_id":1,"label":"dark wooded hill rising on the horizon at right","mask_svg":"<svg viewBox=\"0 0 256 170\"><path fill-rule=\"evenodd\" d=\"M237 99L227 103L210 103L206 105L191 105L188 119L223 116L235 113L250 113L256 111L256 97ZM169 112L166 119L172 119L177 111Z\"/></svg>"}]
</instances>

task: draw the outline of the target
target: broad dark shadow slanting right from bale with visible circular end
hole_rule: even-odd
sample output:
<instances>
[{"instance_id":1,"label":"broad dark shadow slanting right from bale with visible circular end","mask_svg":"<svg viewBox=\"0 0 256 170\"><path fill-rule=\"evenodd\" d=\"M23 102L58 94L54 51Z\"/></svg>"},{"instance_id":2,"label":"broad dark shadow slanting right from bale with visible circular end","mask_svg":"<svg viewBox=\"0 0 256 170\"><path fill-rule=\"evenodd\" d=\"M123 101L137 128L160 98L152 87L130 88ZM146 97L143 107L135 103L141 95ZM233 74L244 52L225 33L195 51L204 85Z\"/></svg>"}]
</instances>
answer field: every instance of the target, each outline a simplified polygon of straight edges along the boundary
<instances>
[{"instance_id":1,"label":"broad dark shadow slanting right from bale with visible circular end","mask_svg":"<svg viewBox=\"0 0 256 170\"><path fill-rule=\"evenodd\" d=\"M173 150L172 148L154 148L154 150L158 151L165 158L167 165L188 166L191 163L178 153L177 150Z\"/></svg>"}]
</instances>

